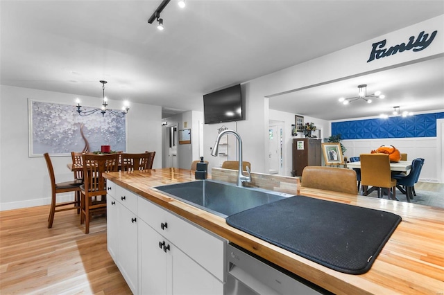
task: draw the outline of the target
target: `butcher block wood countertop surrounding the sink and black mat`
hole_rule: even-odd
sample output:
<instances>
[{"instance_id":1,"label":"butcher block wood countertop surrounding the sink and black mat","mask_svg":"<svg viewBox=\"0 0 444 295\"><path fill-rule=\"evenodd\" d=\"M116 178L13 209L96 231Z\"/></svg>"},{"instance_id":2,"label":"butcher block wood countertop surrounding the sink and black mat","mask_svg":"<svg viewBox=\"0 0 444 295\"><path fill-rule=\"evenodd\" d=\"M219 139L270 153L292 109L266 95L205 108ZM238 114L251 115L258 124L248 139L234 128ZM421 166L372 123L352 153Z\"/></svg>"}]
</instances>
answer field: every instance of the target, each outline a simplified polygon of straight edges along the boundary
<instances>
[{"instance_id":1,"label":"butcher block wood countertop surrounding the sink and black mat","mask_svg":"<svg viewBox=\"0 0 444 295\"><path fill-rule=\"evenodd\" d=\"M163 168L110 172L105 177L335 294L444 294L443 208L300 188L300 195L307 197L379 209L402 217L402 222L379 253L370 271L351 275L323 267L234 229L225 223L223 217L151 189L154 186L194 181L194 171Z\"/></svg>"}]
</instances>

